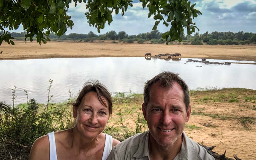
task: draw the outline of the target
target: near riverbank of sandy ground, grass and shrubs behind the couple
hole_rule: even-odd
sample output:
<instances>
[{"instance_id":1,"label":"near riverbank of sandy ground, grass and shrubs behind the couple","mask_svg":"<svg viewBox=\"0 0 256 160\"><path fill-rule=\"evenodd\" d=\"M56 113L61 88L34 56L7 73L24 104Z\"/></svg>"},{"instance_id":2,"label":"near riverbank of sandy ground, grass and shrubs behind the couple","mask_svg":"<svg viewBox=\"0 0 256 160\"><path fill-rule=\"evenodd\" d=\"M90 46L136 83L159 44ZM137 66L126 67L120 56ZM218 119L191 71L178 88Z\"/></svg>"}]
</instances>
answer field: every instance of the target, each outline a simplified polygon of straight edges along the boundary
<instances>
[{"instance_id":1,"label":"near riverbank of sandy ground, grass and shrubs behind the couple","mask_svg":"<svg viewBox=\"0 0 256 160\"><path fill-rule=\"evenodd\" d=\"M46 104L39 104L34 99L17 106L0 102L0 159L27 159L36 138L72 126L69 104L74 97L69 92L65 102L51 103L50 89L51 85ZM143 95L132 92L113 95L114 112L104 132L123 141L148 130L141 111ZM192 113L185 126L189 137L206 146L217 145L214 151L223 153L226 150L228 157L233 154L247 160L255 157L256 90L191 90L190 95Z\"/></svg>"}]
</instances>

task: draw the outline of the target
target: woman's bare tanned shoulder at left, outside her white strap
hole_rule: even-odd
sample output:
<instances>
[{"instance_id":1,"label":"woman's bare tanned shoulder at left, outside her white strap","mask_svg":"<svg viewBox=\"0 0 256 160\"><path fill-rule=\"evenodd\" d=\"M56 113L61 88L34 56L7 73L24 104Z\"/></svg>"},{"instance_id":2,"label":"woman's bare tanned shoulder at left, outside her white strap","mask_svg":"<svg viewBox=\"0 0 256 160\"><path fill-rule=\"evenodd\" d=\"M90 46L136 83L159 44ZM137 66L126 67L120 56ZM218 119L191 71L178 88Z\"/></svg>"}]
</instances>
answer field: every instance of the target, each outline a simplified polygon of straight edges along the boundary
<instances>
[{"instance_id":1,"label":"woman's bare tanned shoulder at left, outside her white strap","mask_svg":"<svg viewBox=\"0 0 256 160\"><path fill-rule=\"evenodd\" d=\"M48 135L43 135L35 140L33 143L29 160L34 159L48 159L50 157L50 145L49 145L49 137Z\"/></svg>"}]
</instances>

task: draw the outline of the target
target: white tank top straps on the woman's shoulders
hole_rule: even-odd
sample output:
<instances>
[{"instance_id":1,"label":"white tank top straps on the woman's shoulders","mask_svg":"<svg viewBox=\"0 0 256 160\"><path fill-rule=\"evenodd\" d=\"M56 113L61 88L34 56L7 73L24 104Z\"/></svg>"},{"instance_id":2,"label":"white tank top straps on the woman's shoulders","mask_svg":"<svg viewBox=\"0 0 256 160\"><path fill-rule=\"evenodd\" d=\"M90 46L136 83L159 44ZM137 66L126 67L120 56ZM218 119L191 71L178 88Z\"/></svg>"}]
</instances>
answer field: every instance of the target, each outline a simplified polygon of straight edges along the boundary
<instances>
[{"instance_id":1,"label":"white tank top straps on the woman's shoulders","mask_svg":"<svg viewBox=\"0 0 256 160\"><path fill-rule=\"evenodd\" d=\"M113 144L113 139L111 135L106 135L106 140L105 140L105 146L103 150L103 155L102 155L102 160L106 160L109 153L112 150L112 144ZM56 152L56 144L55 144L55 136L54 132L48 133L49 137L49 142L50 142L50 160L57 160L57 152Z\"/></svg>"}]
</instances>

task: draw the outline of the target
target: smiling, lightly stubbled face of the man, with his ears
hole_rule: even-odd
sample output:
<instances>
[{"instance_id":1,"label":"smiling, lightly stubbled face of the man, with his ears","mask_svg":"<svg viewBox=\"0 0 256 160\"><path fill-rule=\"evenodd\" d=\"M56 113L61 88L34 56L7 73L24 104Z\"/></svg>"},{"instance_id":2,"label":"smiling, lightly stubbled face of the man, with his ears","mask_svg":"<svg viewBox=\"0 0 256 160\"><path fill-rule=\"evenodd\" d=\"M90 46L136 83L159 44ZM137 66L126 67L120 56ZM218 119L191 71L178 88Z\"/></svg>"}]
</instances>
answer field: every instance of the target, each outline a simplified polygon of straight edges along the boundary
<instances>
[{"instance_id":1,"label":"smiling, lightly stubbled face of the man, with his ears","mask_svg":"<svg viewBox=\"0 0 256 160\"><path fill-rule=\"evenodd\" d=\"M191 112L190 106L186 112L183 97L179 83L173 82L172 88L165 89L156 82L152 85L148 106L142 105L150 137L161 146L170 146L181 140Z\"/></svg>"}]
</instances>

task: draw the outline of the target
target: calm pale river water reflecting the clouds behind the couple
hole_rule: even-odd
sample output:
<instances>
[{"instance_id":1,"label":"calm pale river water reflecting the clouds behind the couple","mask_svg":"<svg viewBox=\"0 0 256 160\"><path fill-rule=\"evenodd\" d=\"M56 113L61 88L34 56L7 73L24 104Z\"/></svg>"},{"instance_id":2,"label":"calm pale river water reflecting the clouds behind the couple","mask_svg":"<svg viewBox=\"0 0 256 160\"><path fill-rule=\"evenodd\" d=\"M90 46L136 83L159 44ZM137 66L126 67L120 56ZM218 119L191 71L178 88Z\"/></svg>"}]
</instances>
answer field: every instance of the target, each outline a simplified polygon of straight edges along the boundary
<instances>
[{"instance_id":1,"label":"calm pale river water reflecting the clouds behind the couple","mask_svg":"<svg viewBox=\"0 0 256 160\"><path fill-rule=\"evenodd\" d=\"M55 58L0 61L0 100L11 103L12 88L17 86L16 104L29 98L46 102L49 80L53 80L51 95L55 102L74 95L88 80L99 80L110 92L142 93L145 81L162 71L179 73L190 89L240 87L256 89L256 65L231 64L230 66L137 57ZM199 60L199 59L195 59ZM226 60L209 60L226 62ZM251 61L229 61L251 62ZM186 64L185 64L186 63ZM255 62L253 62L255 63ZM202 67L196 67L202 66Z\"/></svg>"}]
</instances>

